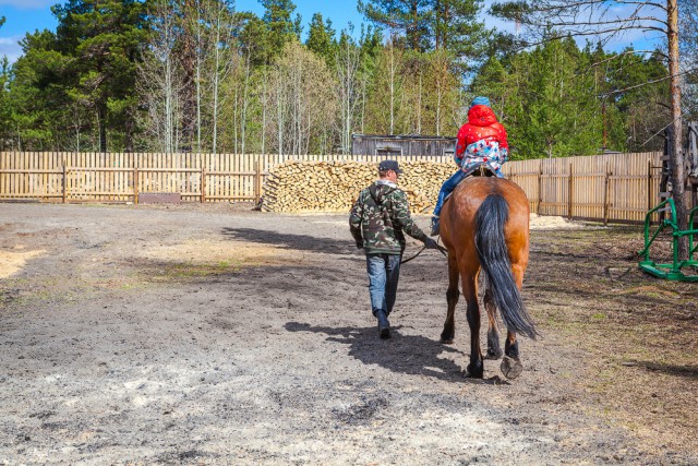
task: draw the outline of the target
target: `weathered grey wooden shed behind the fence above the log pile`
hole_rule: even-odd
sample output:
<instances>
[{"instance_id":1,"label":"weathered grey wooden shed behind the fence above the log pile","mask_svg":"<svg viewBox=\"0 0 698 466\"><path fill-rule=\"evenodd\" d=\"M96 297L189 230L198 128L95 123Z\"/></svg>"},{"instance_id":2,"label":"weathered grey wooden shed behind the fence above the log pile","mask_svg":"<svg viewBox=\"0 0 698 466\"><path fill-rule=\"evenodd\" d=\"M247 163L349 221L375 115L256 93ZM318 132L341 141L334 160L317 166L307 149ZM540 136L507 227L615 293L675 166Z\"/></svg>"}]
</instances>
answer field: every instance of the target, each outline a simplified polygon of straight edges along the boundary
<instances>
[{"instance_id":1,"label":"weathered grey wooden shed behind the fence above the log pile","mask_svg":"<svg viewBox=\"0 0 698 466\"><path fill-rule=\"evenodd\" d=\"M453 155L456 138L423 136L418 134L380 135L352 134L352 155L421 155L433 157Z\"/></svg>"}]
</instances>

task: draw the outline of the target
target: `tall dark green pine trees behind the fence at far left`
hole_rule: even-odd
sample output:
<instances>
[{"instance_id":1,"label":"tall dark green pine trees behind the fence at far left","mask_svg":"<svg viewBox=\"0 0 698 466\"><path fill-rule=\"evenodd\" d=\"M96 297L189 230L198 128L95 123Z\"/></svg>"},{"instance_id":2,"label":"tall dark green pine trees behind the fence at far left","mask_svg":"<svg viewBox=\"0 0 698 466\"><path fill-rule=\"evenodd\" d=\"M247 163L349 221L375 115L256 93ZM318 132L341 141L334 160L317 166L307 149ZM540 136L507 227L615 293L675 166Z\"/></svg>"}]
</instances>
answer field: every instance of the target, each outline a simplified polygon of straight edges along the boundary
<instances>
[{"instance_id":1,"label":"tall dark green pine trees behind the fence at far left","mask_svg":"<svg viewBox=\"0 0 698 466\"><path fill-rule=\"evenodd\" d=\"M24 56L14 64L11 94L17 144L25 150L131 150L135 67L147 31L144 4L70 0L52 11L59 21L57 33L27 34ZM77 142L81 134L94 135L95 130L96 146Z\"/></svg>"}]
</instances>

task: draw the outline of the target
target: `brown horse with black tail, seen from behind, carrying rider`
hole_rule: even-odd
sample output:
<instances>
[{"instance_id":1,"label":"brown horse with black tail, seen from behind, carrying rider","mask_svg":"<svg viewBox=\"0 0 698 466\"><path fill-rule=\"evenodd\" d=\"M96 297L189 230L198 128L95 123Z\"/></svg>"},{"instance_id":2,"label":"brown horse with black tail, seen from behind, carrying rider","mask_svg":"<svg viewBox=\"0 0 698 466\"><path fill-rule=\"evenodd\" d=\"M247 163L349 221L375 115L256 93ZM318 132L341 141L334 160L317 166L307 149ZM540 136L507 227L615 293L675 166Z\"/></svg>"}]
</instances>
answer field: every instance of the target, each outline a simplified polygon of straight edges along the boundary
<instances>
[{"instance_id":1,"label":"brown horse with black tail, seen from behind, carrying rider","mask_svg":"<svg viewBox=\"0 0 698 466\"><path fill-rule=\"evenodd\" d=\"M488 310L488 359L500 359L502 348L496 310L507 327L502 372L509 379L521 373L516 334L535 338L538 334L521 301L521 285L528 264L529 205L526 193L512 181L495 177L466 178L444 204L441 237L448 249L448 313L441 339L453 343L454 313L458 302L458 278L468 304L470 363L468 374L482 378L478 276L484 271Z\"/></svg>"}]
</instances>

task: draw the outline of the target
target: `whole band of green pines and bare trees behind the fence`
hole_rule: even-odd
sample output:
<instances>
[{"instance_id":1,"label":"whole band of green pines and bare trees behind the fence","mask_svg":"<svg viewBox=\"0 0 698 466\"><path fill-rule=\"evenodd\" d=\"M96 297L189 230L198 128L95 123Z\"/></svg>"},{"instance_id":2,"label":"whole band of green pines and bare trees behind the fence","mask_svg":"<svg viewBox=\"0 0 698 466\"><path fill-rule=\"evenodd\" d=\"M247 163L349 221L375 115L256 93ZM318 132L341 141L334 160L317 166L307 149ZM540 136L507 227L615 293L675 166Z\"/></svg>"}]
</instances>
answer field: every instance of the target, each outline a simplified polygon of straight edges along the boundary
<instances>
[{"instance_id":1,"label":"whole band of green pines and bare trees behind the fence","mask_svg":"<svg viewBox=\"0 0 698 466\"><path fill-rule=\"evenodd\" d=\"M231 0L55 7L57 31L28 34L24 55L0 63L0 148L347 151L357 132L454 136L474 95L492 100L516 158L661 147L660 53L569 38L520 50L479 22L483 0L365 0L373 24L358 39L316 13L301 44L296 5L261 3L262 16ZM683 17L696 31L695 14Z\"/></svg>"}]
</instances>

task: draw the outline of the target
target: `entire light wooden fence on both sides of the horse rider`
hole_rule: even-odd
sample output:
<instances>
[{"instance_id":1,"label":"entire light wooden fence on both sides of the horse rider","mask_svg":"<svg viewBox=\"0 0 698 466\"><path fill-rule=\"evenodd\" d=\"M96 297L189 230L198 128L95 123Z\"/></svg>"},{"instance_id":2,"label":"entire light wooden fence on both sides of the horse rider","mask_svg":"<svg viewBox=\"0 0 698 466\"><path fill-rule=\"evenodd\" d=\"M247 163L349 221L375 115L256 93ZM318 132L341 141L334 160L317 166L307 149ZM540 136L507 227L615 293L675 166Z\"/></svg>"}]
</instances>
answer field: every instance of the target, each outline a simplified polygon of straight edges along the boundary
<instances>
[{"instance_id":1,"label":"entire light wooden fence on both sides of the horse rider","mask_svg":"<svg viewBox=\"0 0 698 466\"><path fill-rule=\"evenodd\" d=\"M531 212L641 222L659 202L661 153L516 160L504 172L528 194ZM383 156L278 154L0 153L0 200L135 202L143 193L182 201L258 201L268 170L289 159L378 162ZM421 156L395 156L399 162ZM452 163L450 156L429 160ZM455 166L454 166L455 169Z\"/></svg>"}]
</instances>

